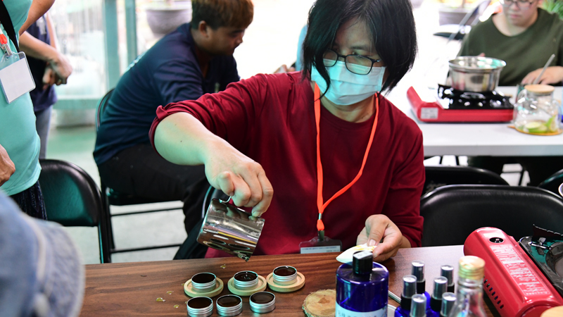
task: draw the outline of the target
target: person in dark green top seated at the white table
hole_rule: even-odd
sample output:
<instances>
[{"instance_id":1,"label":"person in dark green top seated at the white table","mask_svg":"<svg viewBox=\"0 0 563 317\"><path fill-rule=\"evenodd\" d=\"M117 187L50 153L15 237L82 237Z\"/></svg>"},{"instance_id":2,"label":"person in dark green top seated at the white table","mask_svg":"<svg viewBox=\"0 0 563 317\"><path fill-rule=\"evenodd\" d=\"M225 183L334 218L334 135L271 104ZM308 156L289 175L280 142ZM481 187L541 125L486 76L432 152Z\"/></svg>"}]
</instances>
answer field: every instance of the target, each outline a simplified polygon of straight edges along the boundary
<instances>
[{"instance_id":1,"label":"person in dark green top seated at the white table","mask_svg":"<svg viewBox=\"0 0 563 317\"><path fill-rule=\"evenodd\" d=\"M563 20L538 8L541 0L500 0L502 13L475 25L463 39L458 56L484 55L502 59L500 86L531 84L551 54L540 84L563 80Z\"/></svg>"}]
</instances>

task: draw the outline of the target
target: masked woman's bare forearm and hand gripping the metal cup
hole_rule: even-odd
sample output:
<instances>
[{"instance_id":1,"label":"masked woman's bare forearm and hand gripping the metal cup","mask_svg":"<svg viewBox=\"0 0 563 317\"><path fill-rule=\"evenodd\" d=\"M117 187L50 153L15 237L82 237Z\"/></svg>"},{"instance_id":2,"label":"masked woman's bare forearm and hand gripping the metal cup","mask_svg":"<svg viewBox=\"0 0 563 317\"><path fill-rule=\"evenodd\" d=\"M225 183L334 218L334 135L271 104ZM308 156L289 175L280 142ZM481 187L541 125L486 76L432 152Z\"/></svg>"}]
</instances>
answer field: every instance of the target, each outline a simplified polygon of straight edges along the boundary
<instances>
[{"instance_id":1,"label":"masked woman's bare forearm and hand gripping the metal cup","mask_svg":"<svg viewBox=\"0 0 563 317\"><path fill-rule=\"evenodd\" d=\"M205 165L211 186L232 197L236 206L252 207L258 217L270 206L274 189L264 169L224 139L211 133L189 113L166 116L154 133L164 159L179 165Z\"/></svg>"}]
</instances>

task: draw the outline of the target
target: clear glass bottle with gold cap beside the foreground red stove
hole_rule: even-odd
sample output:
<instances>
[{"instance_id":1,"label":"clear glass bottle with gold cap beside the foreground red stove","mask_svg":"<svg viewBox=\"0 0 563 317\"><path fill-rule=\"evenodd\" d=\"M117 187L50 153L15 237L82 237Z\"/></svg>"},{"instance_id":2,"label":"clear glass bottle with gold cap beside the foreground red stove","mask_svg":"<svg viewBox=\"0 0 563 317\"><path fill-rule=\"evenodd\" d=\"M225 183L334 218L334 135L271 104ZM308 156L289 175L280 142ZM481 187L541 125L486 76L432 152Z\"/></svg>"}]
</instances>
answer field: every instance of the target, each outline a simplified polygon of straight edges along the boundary
<instances>
[{"instance_id":1,"label":"clear glass bottle with gold cap beside the foreground red stove","mask_svg":"<svg viewBox=\"0 0 563 317\"><path fill-rule=\"evenodd\" d=\"M485 317L483 275L485 261L477 256L463 256L457 275L455 304L448 317Z\"/></svg>"}]
</instances>

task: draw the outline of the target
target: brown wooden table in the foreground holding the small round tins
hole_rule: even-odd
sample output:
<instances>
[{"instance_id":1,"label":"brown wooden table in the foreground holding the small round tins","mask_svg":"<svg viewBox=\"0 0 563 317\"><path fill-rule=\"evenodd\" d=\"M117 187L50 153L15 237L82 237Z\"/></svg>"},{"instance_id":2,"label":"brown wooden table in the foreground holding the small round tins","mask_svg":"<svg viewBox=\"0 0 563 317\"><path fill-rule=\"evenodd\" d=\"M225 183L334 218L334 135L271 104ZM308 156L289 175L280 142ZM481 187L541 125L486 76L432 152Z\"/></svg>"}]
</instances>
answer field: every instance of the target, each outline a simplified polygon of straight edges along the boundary
<instances>
[{"instance_id":1,"label":"brown wooden table in the foreground holding the small round tins","mask_svg":"<svg viewBox=\"0 0 563 317\"><path fill-rule=\"evenodd\" d=\"M336 269L341 264L336 261L336 255L253 256L248 262L222 258L91 264L86 266L86 292L81 316L186 316L185 303L189 297L184 294L183 284L192 275L215 273L226 284L238 271L255 271L266 277L282 265L294 266L303 273L305 286L293 293L274 292L276 309L267 316L304 316L301 304L308 294L336 287ZM426 263L426 291L431 293L432 280L440 274L440 266L454 266L457 280L457 261L461 256L462 246L400 249L397 256L383 263L390 273L389 290L400 295L403 275L410 274L410 263L423 260ZM226 285L221 295L224 294L230 294ZM165 299L165 302L157 302L157 298ZM389 299L389 304L398 306L392 299ZM177 308L175 305L178 305ZM487 313L493 316L488 309ZM218 316L216 310L213 316ZM243 312L239 316L258 316L251 311L248 297L243 297Z\"/></svg>"}]
</instances>

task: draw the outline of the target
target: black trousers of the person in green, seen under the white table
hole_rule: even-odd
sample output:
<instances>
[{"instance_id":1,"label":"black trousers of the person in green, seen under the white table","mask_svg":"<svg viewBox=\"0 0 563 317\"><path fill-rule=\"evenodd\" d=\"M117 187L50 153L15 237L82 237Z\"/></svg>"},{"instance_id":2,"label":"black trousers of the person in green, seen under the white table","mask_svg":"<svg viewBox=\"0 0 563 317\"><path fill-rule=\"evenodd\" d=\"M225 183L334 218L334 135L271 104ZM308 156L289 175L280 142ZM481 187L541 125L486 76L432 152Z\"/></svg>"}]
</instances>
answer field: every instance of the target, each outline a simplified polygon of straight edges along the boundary
<instances>
[{"instance_id":1,"label":"black trousers of the person in green, seen under the white table","mask_svg":"<svg viewBox=\"0 0 563 317\"><path fill-rule=\"evenodd\" d=\"M563 168L563 156L469 156L469 166L491 170L500 175L502 166L519 163L530 175L530 186L538 186Z\"/></svg>"}]
</instances>

